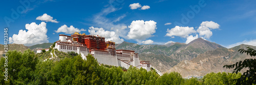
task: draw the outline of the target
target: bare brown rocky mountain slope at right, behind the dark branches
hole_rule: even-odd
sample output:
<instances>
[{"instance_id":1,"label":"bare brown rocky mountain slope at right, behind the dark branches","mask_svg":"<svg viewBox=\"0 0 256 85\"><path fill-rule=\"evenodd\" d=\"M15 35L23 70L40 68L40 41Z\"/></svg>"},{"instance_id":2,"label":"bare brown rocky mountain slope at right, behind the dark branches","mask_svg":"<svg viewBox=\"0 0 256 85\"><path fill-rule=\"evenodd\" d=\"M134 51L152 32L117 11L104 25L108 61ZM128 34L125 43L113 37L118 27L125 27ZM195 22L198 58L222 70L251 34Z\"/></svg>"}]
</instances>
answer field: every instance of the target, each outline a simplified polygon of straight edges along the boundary
<instances>
[{"instance_id":1,"label":"bare brown rocky mountain slope at right, behind the dark branches","mask_svg":"<svg viewBox=\"0 0 256 85\"><path fill-rule=\"evenodd\" d=\"M183 60L166 72L176 71L181 73L183 77L191 75L203 76L210 72L232 72L233 69L225 69L223 66L231 65L245 59L251 59L251 56L238 52L239 49L246 49L246 47L256 48L255 46L244 44L230 49L217 48L199 54L197 58L190 61ZM243 71L245 71L245 69Z\"/></svg>"}]
</instances>

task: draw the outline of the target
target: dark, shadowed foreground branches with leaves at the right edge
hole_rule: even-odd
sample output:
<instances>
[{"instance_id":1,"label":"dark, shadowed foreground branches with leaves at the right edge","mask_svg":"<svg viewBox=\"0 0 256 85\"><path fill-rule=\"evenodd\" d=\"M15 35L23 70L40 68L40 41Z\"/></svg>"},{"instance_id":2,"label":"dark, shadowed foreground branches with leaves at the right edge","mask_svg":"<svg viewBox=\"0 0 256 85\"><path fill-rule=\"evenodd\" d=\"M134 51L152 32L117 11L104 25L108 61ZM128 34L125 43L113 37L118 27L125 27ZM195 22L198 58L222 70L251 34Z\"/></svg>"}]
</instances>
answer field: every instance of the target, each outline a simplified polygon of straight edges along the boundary
<instances>
[{"instance_id":1,"label":"dark, shadowed foreground branches with leaves at the right edge","mask_svg":"<svg viewBox=\"0 0 256 85\"><path fill-rule=\"evenodd\" d=\"M245 49L239 49L240 53L247 53L247 55L255 56L256 50L252 49L250 47L247 47L247 50ZM236 66L236 68L234 68ZM233 69L233 73L240 72L243 68L248 68L246 72L243 73L243 75L237 79L236 84L255 84L256 83L256 59L245 59L243 62L237 62L233 65L225 65L224 68Z\"/></svg>"}]
</instances>

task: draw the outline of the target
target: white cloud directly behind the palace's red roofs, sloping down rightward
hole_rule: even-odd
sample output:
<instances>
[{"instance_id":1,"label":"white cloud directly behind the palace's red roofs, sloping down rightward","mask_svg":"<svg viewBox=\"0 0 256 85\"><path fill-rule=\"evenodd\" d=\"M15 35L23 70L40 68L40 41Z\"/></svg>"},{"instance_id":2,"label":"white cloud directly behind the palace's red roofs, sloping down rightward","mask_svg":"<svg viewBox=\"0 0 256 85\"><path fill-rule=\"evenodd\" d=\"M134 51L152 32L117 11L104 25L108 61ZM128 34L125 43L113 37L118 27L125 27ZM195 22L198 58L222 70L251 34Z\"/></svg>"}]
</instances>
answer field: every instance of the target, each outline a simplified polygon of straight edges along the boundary
<instances>
[{"instance_id":1,"label":"white cloud directly behind the palace's red roofs, sloping down rightward","mask_svg":"<svg viewBox=\"0 0 256 85\"><path fill-rule=\"evenodd\" d=\"M90 33L90 35L98 35L98 36L102 36L105 37L105 41L114 41L117 44L122 43L124 40L119 38L119 36L113 32L113 31L105 31L102 27L98 28L98 27L89 27L88 32Z\"/></svg>"}]
</instances>

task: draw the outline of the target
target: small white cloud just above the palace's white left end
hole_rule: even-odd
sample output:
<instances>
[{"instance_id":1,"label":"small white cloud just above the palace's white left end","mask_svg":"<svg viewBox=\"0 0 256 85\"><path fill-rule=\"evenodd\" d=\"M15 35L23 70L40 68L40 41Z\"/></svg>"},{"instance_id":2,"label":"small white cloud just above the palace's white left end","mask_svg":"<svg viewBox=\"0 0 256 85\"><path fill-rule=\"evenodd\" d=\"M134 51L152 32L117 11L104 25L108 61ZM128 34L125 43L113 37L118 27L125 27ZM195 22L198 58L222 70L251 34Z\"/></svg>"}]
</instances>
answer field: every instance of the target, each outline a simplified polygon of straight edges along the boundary
<instances>
[{"instance_id":1,"label":"small white cloud just above the palace's white left end","mask_svg":"<svg viewBox=\"0 0 256 85\"><path fill-rule=\"evenodd\" d=\"M75 28L73 25L68 27L66 24L64 24L64 25L60 26L59 29L55 32L56 33L62 32L62 33L65 33L65 34L73 34L75 32L80 33L81 31L86 31L86 30L84 30L84 29L79 30L79 29Z\"/></svg>"}]
</instances>

